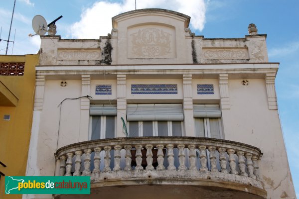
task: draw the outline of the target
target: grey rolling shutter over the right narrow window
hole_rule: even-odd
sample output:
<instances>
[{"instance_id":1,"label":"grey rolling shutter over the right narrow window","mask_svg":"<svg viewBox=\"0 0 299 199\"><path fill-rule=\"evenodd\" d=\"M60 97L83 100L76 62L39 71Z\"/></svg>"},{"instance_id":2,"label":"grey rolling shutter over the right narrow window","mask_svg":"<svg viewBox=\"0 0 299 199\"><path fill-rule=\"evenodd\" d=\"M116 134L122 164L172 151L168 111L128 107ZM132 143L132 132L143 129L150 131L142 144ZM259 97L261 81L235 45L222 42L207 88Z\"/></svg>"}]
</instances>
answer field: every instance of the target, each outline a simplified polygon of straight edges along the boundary
<instances>
[{"instance_id":1,"label":"grey rolling shutter over the right narrow window","mask_svg":"<svg viewBox=\"0 0 299 199\"><path fill-rule=\"evenodd\" d=\"M194 117L221 117L221 110L219 104L193 104Z\"/></svg>"}]
</instances>

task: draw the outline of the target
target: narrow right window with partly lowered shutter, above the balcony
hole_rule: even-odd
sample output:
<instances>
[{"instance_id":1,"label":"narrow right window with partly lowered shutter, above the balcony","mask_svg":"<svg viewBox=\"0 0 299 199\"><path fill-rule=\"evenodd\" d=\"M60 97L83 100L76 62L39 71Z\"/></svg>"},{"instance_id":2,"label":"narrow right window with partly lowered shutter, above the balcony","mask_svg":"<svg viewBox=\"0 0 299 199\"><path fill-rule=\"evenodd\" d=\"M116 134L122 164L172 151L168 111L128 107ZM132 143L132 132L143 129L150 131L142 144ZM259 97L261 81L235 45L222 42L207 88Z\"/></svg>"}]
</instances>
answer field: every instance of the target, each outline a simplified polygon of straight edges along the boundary
<instances>
[{"instance_id":1,"label":"narrow right window with partly lowered shutter, above the balcony","mask_svg":"<svg viewBox=\"0 0 299 199\"><path fill-rule=\"evenodd\" d=\"M223 139L221 110L218 104L193 105L195 136Z\"/></svg>"}]
</instances>

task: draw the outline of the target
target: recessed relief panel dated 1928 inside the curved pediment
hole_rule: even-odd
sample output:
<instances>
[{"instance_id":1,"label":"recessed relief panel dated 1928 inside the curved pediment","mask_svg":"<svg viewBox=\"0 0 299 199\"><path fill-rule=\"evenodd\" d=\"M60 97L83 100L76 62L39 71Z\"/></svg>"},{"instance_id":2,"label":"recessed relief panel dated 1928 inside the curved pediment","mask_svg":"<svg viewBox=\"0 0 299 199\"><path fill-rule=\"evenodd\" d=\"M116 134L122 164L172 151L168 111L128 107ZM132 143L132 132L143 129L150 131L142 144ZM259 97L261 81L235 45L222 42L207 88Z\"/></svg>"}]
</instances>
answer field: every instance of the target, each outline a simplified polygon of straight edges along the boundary
<instances>
[{"instance_id":1,"label":"recessed relief panel dated 1928 inside the curved pediment","mask_svg":"<svg viewBox=\"0 0 299 199\"><path fill-rule=\"evenodd\" d=\"M141 57L156 58L171 53L171 34L159 28L144 28L130 34L132 53Z\"/></svg>"}]
</instances>

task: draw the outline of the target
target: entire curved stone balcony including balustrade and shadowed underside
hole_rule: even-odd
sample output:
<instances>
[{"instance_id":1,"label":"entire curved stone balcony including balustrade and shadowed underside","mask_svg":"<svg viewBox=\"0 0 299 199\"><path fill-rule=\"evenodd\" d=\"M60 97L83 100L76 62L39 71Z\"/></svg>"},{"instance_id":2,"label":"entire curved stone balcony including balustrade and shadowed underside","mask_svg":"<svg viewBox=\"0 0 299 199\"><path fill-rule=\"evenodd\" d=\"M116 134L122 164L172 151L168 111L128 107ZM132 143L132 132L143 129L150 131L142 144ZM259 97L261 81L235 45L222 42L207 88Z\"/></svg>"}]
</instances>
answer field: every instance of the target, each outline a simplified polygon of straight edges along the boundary
<instances>
[{"instance_id":1,"label":"entire curved stone balcony including balustrade and shadowed underside","mask_svg":"<svg viewBox=\"0 0 299 199\"><path fill-rule=\"evenodd\" d=\"M60 176L91 176L91 195L80 199L267 197L259 177L261 150L239 142L198 137L113 138L71 144L58 149L55 156Z\"/></svg>"}]
</instances>

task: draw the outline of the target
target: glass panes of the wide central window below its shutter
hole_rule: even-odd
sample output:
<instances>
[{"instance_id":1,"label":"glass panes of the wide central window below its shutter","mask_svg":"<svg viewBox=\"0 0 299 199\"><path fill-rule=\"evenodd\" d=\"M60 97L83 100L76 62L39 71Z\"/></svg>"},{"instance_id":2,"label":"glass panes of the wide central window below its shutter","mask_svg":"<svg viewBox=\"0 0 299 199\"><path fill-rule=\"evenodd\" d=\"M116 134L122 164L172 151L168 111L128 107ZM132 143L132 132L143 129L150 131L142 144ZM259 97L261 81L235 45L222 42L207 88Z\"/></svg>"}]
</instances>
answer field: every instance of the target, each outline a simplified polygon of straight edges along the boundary
<instances>
[{"instance_id":1,"label":"glass panes of the wide central window below its shutter","mask_svg":"<svg viewBox=\"0 0 299 199\"><path fill-rule=\"evenodd\" d=\"M130 137L149 136L182 136L182 121L129 121L127 122Z\"/></svg>"}]
</instances>

